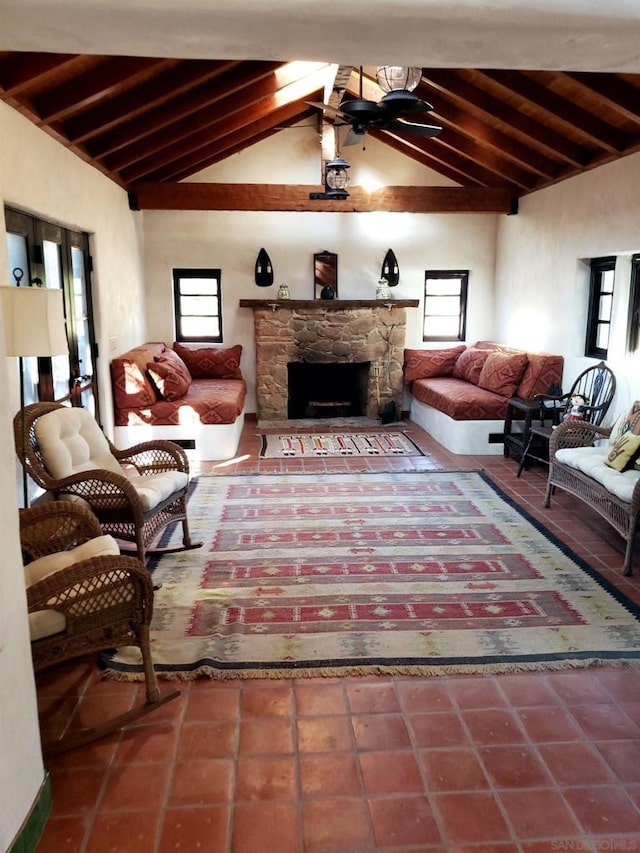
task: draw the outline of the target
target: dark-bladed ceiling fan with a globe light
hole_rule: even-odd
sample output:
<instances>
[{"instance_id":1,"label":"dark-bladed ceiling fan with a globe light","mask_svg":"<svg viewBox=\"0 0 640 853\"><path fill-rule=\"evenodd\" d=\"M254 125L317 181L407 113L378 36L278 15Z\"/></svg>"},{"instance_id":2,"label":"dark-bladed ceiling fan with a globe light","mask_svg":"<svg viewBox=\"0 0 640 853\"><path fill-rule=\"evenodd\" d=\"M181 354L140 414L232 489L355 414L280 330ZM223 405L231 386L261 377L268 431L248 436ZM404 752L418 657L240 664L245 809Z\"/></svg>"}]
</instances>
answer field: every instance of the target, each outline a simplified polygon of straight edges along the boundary
<instances>
[{"instance_id":1,"label":"dark-bladed ceiling fan with a globe light","mask_svg":"<svg viewBox=\"0 0 640 853\"><path fill-rule=\"evenodd\" d=\"M338 119L336 124L351 126L351 131L343 145L354 145L359 142L371 127L389 130L392 133L431 138L440 133L442 130L440 125L407 119L407 116L418 116L433 109L428 101L423 101L413 92L421 76L420 68L382 65L377 69L376 77L385 95L379 101L371 101L363 98L363 75L362 66L360 66L358 98L343 100L339 107L319 103L311 103L311 106L333 115Z\"/></svg>"}]
</instances>

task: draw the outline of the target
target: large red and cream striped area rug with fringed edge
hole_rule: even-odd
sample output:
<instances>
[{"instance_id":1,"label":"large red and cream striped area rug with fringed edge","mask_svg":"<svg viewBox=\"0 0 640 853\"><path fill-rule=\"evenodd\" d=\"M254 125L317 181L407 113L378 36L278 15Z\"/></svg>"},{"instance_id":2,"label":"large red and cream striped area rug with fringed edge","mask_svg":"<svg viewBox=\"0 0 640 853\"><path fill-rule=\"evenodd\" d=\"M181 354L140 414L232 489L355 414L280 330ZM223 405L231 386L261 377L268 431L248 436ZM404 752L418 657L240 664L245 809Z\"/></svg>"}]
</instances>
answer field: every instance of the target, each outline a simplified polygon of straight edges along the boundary
<instances>
[{"instance_id":1,"label":"large red and cream striped area rug with fringed edge","mask_svg":"<svg viewBox=\"0 0 640 853\"><path fill-rule=\"evenodd\" d=\"M189 510L204 547L153 558L163 677L640 657L638 608L477 472L201 477ZM109 675L141 678L136 653Z\"/></svg>"}]
</instances>

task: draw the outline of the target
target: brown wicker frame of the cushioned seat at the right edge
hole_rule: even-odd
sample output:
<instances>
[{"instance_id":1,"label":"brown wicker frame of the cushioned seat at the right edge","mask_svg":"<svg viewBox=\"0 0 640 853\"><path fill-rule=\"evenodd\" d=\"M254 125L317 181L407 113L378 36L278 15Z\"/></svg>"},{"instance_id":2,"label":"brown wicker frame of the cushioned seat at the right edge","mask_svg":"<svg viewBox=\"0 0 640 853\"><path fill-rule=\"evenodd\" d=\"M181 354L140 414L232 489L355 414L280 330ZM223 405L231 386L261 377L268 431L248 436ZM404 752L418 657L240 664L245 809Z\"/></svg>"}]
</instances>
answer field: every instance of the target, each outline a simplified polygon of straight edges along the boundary
<instances>
[{"instance_id":1,"label":"brown wicker frame of the cushioned seat at the right edge","mask_svg":"<svg viewBox=\"0 0 640 853\"><path fill-rule=\"evenodd\" d=\"M565 421L553 431L549 441L549 478L544 505L551 505L551 495L557 487L595 510L625 539L622 571L624 575L629 576L632 574L633 544L640 516L640 479L635 485L632 483L629 486L629 494L624 496L629 500L623 500L584 471L556 456L561 450L591 448L589 452L593 453L594 457L599 454L604 458L607 449L598 448L596 442L607 439L610 435L610 428L596 426L587 421ZM612 472L613 477L616 474L617 472Z\"/></svg>"}]
</instances>

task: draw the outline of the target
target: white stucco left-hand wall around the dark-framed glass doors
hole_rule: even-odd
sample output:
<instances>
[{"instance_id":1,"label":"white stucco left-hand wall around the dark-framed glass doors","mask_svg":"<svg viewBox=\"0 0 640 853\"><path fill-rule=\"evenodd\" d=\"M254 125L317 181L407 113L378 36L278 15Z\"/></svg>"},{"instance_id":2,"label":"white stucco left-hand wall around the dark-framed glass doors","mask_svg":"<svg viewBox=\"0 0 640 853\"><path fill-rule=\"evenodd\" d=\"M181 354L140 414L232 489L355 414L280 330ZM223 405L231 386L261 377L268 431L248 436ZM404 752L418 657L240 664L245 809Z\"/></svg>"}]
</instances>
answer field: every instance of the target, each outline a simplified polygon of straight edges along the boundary
<instances>
[{"instance_id":1,"label":"white stucco left-hand wall around the dark-framed glass doors","mask_svg":"<svg viewBox=\"0 0 640 853\"><path fill-rule=\"evenodd\" d=\"M88 231L94 259L94 309L105 424L112 422L109 340L122 349L146 337L142 304L141 214L126 193L14 110L0 104L0 202ZM0 217L0 282L9 283L4 217ZM0 354L4 340L0 341ZM7 849L43 779L31 668L12 419L18 410L15 359L0 363L0 849ZM8 473L9 472L9 473Z\"/></svg>"}]
</instances>

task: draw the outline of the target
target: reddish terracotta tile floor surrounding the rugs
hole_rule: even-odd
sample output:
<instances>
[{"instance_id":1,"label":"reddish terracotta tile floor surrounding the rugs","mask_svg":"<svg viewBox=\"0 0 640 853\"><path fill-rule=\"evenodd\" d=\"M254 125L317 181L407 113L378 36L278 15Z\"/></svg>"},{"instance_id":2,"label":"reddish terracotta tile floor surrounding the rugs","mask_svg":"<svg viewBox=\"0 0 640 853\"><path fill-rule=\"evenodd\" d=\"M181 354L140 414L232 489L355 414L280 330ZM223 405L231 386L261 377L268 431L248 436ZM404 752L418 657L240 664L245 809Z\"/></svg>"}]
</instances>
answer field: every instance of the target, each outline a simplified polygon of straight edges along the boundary
<instances>
[{"instance_id":1,"label":"reddish terracotta tile floor surrounding the rugs","mask_svg":"<svg viewBox=\"0 0 640 853\"><path fill-rule=\"evenodd\" d=\"M545 510L544 469L502 456L257 458L248 423L232 463L202 473L484 468L599 572L622 543L578 501ZM640 562L640 560L639 560ZM640 668L433 678L181 685L138 725L48 762L53 810L39 853L543 853L640 850ZM93 661L39 680L49 726L128 707L140 685L104 682Z\"/></svg>"}]
</instances>

